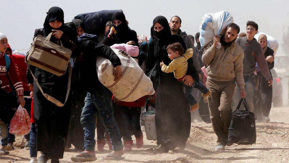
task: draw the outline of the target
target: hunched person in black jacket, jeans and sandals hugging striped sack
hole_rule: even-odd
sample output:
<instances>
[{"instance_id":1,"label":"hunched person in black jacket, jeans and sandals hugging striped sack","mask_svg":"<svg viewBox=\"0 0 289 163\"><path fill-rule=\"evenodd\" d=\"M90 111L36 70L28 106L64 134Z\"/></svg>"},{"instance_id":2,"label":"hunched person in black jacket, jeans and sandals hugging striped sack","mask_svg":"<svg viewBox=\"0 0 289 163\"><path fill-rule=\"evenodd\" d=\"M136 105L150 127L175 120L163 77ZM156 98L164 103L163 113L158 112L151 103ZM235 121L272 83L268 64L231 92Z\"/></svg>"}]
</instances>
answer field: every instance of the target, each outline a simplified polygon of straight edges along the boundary
<instances>
[{"instance_id":1,"label":"hunched person in black jacket, jeans and sandals hugging striped sack","mask_svg":"<svg viewBox=\"0 0 289 163\"><path fill-rule=\"evenodd\" d=\"M110 60L115 67L115 81L121 78L121 61L114 51L106 45L91 41L93 35L82 34L78 38L84 66L81 67L80 77L84 80L87 89L87 96L84 100L85 105L81 113L81 124L84 129L84 151L71 158L74 162L95 161L95 120L94 115L97 111L101 115L101 120L109 132L113 151L107 155L107 159L123 159L123 146L118 126L113 117L113 108L110 91L103 86L97 77L96 60L97 56L102 56Z\"/></svg>"}]
</instances>

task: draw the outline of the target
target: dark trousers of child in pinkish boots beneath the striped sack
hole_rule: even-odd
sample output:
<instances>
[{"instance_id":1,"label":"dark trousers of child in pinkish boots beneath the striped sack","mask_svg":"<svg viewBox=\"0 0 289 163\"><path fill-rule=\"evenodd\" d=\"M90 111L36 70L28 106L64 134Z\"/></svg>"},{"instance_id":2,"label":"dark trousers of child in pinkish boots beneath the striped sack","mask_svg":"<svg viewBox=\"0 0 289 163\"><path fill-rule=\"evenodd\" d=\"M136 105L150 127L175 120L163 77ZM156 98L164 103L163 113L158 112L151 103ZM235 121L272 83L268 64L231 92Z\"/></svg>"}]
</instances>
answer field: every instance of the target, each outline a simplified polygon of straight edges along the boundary
<instances>
[{"instance_id":1,"label":"dark trousers of child in pinkish boots beneath the striped sack","mask_svg":"<svg viewBox=\"0 0 289 163\"><path fill-rule=\"evenodd\" d=\"M142 136L142 130L140 128L140 107L126 107L121 108L121 119L123 125L123 140L131 140L131 133L135 137Z\"/></svg>"}]
</instances>

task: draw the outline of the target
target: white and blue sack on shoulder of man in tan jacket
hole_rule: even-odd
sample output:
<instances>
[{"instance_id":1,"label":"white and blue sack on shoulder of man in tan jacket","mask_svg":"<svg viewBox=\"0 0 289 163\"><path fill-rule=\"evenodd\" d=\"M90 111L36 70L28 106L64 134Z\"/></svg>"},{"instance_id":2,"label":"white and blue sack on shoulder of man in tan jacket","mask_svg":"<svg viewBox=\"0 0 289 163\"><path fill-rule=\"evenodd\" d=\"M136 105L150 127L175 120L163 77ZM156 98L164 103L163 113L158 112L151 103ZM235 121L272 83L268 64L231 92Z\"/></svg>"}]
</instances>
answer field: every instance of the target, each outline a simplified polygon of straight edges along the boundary
<instances>
[{"instance_id":1,"label":"white and blue sack on shoulder of man in tan jacket","mask_svg":"<svg viewBox=\"0 0 289 163\"><path fill-rule=\"evenodd\" d=\"M215 35L222 36L224 31L222 31L229 24L234 23L232 15L227 11L220 11L216 13L206 13L203 16L203 22L200 25L200 43L201 48L208 45L209 42L213 41ZM217 48L221 47L221 43Z\"/></svg>"}]
</instances>

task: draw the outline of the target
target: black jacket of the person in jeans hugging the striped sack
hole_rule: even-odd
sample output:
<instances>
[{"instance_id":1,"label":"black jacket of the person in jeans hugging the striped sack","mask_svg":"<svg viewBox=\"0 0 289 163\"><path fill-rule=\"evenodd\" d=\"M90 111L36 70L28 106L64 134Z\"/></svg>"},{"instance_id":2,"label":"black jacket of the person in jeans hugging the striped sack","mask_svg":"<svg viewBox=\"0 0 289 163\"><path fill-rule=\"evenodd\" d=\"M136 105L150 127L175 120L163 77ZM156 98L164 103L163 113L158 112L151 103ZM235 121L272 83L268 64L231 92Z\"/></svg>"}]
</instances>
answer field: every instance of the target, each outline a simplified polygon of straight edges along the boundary
<instances>
[{"instance_id":1,"label":"black jacket of the person in jeans hugging the striped sack","mask_svg":"<svg viewBox=\"0 0 289 163\"><path fill-rule=\"evenodd\" d=\"M121 60L109 46L91 40L79 42L79 46L84 57L84 64L80 70L80 80L88 92L93 92L101 84L97 77L97 57L102 56L109 59L114 67L121 65Z\"/></svg>"}]
</instances>

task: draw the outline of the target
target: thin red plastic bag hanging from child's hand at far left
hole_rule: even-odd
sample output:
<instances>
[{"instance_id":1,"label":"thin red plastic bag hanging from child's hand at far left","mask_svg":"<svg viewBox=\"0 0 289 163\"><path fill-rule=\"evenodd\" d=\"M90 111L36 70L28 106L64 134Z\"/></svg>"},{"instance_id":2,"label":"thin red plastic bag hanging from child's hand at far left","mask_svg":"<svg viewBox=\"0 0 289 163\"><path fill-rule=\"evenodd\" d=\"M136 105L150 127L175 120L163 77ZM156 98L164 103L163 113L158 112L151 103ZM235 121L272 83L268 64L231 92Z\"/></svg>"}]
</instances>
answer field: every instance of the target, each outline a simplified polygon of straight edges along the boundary
<instances>
[{"instance_id":1,"label":"thin red plastic bag hanging from child's hand at far left","mask_svg":"<svg viewBox=\"0 0 289 163\"><path fill-rule=\"evenodd\" d=\"M19 105L15 115L10 121L9 133L15 135L26 135L30 132L31 122L26 109Z\"/></svg>"}]
</instances>

